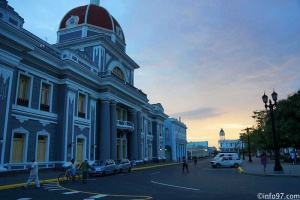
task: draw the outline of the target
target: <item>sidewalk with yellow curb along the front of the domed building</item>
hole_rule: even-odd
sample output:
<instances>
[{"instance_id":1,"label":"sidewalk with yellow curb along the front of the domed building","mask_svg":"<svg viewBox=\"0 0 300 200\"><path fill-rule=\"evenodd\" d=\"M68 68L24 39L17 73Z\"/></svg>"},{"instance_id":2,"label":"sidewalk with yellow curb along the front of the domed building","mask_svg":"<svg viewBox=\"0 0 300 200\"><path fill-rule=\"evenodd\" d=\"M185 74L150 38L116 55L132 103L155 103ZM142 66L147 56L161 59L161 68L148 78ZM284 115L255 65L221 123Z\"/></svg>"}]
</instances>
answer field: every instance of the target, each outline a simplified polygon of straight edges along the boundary
<instances>
[{"instance_id":1,"label":"sidewalk with yellow curb along the front of the domed building","mask_svg":"<svg viewBox=\"0 0 300 200\"><path fill-rule=\"evenodd\" d=\"M168 165L176 165L180 163L174 162L160 162L160 163L147 163L139 164L135 168L132 168L132 171L149 169L154 167L163 167ZM81 173L81 171L78 171ZM40 169L39 170L39 180L41 184L48 182L56 182L59 174L64 173L63 170L54 170L54 169ZM10 188L22 187L25 185L29 177L29 171L22 172L5 172L0 173L0 191ZM31 185L34 185L34 182L31 182Z\"/></svg>"}]
</instances>

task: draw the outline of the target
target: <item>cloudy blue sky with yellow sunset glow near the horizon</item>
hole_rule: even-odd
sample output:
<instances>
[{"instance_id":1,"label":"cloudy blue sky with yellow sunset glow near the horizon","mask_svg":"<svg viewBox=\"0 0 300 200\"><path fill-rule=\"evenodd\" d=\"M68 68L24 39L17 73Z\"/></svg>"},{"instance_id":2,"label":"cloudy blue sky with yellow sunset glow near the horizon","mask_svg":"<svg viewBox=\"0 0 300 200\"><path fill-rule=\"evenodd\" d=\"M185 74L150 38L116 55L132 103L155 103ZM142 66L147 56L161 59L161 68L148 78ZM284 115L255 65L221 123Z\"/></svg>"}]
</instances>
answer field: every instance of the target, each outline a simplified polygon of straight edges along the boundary
<instances>
[{"instance_id":1,"label":"cloudy blue sky with yellow sunset glow near the horizon","mask_svg":"<svg viewBox=\"0 0 300 200\"><path fill-rule=\"evenodd\" d=\"M24 28L50 44L63 16L89 0L8 0ZM255 125L262 95L300 89L299 0L101 0L140 66L135 87L187 126L187 141L218 147Z\"/></svg>"}]
</instances>

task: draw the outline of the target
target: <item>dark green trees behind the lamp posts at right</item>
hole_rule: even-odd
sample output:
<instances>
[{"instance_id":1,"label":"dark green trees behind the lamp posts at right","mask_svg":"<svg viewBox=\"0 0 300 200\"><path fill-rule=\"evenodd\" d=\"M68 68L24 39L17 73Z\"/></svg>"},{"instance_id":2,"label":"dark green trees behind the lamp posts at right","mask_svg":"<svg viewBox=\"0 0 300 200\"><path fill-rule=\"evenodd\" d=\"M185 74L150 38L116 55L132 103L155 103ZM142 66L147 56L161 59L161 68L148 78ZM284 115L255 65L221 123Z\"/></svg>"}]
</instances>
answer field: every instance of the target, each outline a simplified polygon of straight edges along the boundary
<instances>
[{"instance_id":1,"label":"dark green trees behind the lamp posts at right","mask_svg":"<svg viewBox=\"0 0 300 200\"><path fill-rule=\"evenodd\" d=\"M250 134L251 151L273 149L272 120L270 110L254 111L256 126ZM280 148L300 148L300 90L287 99L277 102L274 109L275 130ZM243 139L245 144L247 140ZM253 152L252 151L252 152Z\"/></svg>"}]
</instances>

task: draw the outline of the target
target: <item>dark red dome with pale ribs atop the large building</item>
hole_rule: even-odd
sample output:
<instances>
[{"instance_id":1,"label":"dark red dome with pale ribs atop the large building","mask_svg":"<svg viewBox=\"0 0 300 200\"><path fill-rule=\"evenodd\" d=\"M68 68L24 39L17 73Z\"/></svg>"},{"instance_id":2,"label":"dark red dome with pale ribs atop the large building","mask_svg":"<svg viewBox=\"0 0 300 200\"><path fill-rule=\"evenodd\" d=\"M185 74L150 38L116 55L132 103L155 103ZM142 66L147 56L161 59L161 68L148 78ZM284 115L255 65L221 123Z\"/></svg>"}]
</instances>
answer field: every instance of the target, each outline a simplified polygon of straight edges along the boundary
<instances>
[{"instance_id":1,"label":"dark red dome with pale ribs atop the large building","mask_svg":"<svg viewBox=\"0 0 300 200\"><path fill-rule=\"evenodd\" d=\"M67 28L67 21L72 17L77 18L77 25L89 24L97 26L99 28L113 31L118 35L125 43L125 37L121 26L118 21L109 12L94 4L80 6L70 10L64 18L61 20L59 29Z\"/></svg>"}]
</instances>

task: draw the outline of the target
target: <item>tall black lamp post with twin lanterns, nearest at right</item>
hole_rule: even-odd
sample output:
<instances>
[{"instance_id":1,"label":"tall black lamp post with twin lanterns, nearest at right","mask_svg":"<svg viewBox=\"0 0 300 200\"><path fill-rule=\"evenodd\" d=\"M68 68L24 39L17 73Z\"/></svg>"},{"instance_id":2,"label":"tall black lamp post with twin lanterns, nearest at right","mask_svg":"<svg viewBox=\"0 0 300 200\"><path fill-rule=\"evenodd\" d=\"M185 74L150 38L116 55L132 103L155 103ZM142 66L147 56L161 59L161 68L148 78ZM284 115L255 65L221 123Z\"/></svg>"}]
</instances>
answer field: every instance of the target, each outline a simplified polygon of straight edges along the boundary
<instances>
[{"instance_id":1,"label":"tall black lamp post with twin lanterns, nearest at right","mask_svg":"<svg viewBox=\"0 0 300 200\"><path fill-rule=\"evenodd\" d=\"M273 110L277 105L277 97L278 94L273 90L273 93L271 94L272 99L274 103L272 103L271 99L269 100L269 105L268 103L268 96L264 93L262 96L262 100L265 103L265 108L270 109L270 115L271 115L271 121L272 121L272 135L273 135L273 146L274 146L274 151L275 151L275 166L274 166L274 171L283 171L283 168L280 164L279 160L279 146L278 146L278 141L277 141L277 135L275 132L275 123L274 123L274 113Z\"/></svg>"}]
</instances>

